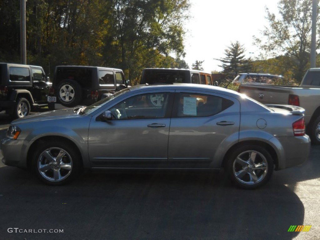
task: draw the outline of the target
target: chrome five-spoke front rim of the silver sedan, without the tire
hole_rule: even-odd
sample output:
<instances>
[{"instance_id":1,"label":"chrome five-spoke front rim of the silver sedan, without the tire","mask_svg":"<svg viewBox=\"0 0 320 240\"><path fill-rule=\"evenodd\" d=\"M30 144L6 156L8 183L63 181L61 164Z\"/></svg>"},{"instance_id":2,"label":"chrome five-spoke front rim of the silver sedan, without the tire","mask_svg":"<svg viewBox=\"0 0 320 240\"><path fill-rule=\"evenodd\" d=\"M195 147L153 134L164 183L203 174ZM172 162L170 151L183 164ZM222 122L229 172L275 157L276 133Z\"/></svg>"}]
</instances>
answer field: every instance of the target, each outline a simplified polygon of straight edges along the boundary
<instances>
[{"instance_id":1,"label":"chrome five-spoke front rim of the silver sedan, without the tire","mask_svg":"<svg viewBox=\"0 0 320 240\"><path fill-rule=\"evenodd\" d=\"M72 172L72 158L69 153L58 147L45 149L38 157L37 169L48 181L59 182Z\"/></svg>"}]
</instances>

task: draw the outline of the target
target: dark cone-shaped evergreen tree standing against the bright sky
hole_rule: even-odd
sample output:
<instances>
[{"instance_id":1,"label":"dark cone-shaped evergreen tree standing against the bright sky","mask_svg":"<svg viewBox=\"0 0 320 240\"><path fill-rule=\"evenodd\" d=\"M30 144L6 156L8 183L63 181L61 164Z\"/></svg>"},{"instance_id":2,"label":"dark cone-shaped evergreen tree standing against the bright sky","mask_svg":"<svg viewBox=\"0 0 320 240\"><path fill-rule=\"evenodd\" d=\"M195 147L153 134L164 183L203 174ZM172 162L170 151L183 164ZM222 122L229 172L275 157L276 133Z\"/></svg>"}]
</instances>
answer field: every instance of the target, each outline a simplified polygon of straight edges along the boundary
<instances>
[{"instance_id":1,"label":"dark cone-shaped evergreen tree standing against the bright sky","mask_svg":"<svg viewBox=\"0 0 320 240\"><path fill-rule=\"evenodd\" d=\"M241 45L238 41L231 42L231 46L225 49L225 57L216 59L222 64L218 65L223 69L223 73L230 75L238 75L240 72L250 72L251 61L245 58L244 45Z\"/></svg>"}]
</instances>

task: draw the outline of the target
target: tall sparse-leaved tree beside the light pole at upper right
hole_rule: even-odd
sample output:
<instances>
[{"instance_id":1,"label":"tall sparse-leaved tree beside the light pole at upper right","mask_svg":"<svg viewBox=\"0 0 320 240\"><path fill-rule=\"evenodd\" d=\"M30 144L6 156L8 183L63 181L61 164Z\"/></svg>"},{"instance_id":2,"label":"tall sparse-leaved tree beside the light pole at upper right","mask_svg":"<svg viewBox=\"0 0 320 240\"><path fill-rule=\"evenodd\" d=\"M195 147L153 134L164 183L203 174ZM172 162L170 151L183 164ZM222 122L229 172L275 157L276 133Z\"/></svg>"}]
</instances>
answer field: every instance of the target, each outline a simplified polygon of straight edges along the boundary
<instances>
[{"instance_id":1,"label":"tall sparse-leaved tree beside the light pole at upper right","mask_svg":"<svg viewBox=\"0 0 320 240\"><path fill-rule=\"evenodd\" d=\"M280 0L278 10L279 18L276 18L276 15L266 8L269 26L261 32L262 37L254 36L255 44L266 53L266 58L283 56L283 68L290 67L294 77L302 79L310 59L311 1ZM317 14L319 21L319 11ZM277 63L279 64L279 61Z\"/></svg>"}]
</instances>

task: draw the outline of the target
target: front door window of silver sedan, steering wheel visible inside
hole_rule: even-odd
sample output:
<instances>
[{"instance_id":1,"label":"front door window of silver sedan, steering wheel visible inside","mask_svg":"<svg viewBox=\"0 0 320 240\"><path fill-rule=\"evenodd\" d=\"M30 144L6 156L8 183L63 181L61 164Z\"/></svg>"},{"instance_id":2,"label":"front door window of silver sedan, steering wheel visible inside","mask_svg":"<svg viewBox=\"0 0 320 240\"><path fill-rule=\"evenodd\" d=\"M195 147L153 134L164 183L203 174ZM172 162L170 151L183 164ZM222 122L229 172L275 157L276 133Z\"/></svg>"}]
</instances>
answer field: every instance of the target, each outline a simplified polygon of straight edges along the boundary
<instances>
[{"instance_id":1,"label":"front door window of silver sedan, steering wheel visible inside","mask_svg":"<svg viewBox=\"0 0 320 240\"><path fill-rule=\"evenodd\" d=\"M169 102L169 93L145 93L127 98L111 107L113 119L164 118Z\"/></svg>"}]
</instances>

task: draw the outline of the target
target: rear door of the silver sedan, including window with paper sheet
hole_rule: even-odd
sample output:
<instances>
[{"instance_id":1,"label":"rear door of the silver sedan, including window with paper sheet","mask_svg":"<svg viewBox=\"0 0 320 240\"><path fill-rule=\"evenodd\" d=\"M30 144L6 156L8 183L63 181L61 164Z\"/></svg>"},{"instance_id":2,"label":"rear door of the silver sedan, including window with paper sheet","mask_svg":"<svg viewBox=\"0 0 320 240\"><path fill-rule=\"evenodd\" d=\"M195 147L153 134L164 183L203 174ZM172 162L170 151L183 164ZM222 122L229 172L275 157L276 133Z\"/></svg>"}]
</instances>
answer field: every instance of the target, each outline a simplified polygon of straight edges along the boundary
<instances>
[{"instance_id":1,"label":"rear door of the silver sedan, including window with paper sheet","mask_svg":"<svg viewBox=\"0 0 320 240\"><path fill-rule=\"evenodd\" d=\"M240 103L222 94L176 92L169 133L171 167L215 168L217 150L239 138ZM220 167L220 166L219 166Z\"/></svg>"}]
</instances>

